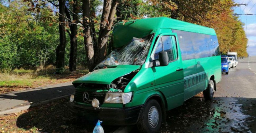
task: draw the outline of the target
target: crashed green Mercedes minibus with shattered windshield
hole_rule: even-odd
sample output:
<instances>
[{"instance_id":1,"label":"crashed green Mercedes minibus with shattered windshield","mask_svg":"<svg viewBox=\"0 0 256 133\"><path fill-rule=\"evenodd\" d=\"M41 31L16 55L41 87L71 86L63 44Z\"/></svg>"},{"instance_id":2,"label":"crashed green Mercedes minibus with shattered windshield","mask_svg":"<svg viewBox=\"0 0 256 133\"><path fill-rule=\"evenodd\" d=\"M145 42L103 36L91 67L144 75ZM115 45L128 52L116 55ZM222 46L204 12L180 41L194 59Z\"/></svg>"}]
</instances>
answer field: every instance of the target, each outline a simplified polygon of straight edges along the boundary
<instances>
[{"instance_id":1,"label":"crashed green Mercedes minibus with shattered windshield","mask_svg":"<svg viewBox=\"0 0 256 133\"><path fill-rule=\"evenodd\" d=\"M221 81L221 56L214 29L167 17L119 23L114 50L72 84L70 109L86 120L137 124L157 132L166 111L203 91L211 100Z\"/></svg>"}]
</instances>

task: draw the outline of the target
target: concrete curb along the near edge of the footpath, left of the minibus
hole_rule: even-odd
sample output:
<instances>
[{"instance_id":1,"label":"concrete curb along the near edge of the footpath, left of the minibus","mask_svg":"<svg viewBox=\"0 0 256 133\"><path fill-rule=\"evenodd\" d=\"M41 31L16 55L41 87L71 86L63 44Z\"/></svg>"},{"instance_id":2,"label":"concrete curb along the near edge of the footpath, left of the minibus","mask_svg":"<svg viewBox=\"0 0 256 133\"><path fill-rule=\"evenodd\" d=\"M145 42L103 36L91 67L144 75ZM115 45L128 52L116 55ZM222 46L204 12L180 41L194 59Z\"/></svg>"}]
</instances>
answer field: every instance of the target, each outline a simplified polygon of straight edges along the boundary
<instances>
[{"instance_id":1,"label":"concrete curb along the near edge of the footpath, left of the minibus","mask_svg":"<svg viewBox=\"0 0 256 133\"><path fill-rule=\"evenodd\" d=\"M63 99L63 98L68 97L70 95L71 94L63 95L61 97L57 97L57 98L53 98L53 99L48 99L48 100L45 100L45 101L41 101L41 102L30 104L30 105L20 106L20 107L17 107L17 108L12 108L12 109L8 109L8 110L4 110L4 111L0 112L0 116L4 115L4 114L9 114L9 113L18 113L18 112L21 112L23 110L27 110L30 107L35 107L35 106L39 106L39 105L42 105L42 104L45 104L45 103L49 103L49 102L52 102L52 101Z\"/></svg>"}]
</instances>

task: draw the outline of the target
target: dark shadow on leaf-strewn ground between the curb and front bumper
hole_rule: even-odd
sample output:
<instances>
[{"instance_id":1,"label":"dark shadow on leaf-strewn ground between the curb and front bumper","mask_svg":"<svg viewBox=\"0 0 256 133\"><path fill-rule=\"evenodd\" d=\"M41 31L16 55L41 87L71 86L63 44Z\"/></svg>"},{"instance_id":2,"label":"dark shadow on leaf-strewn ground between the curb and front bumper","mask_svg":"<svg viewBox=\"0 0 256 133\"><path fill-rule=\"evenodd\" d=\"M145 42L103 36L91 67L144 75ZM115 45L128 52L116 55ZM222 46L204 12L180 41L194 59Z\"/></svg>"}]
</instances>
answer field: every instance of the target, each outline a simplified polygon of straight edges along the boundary
<instances>
[{"instance_id":1,"label":"dark shadow on leaf-strewn ground between the curb and front bumper","mask_svg":"<svg viewBox=\"0 0 256 133\"><path fill-rule=\"evenodd\" d=\"M96 123L88 123L80 118L77 119L69 111L68 98L51 102L48 104L32 107L28 112L17 118L18 128L30 130L37 128L45 132L69 132L69 133L87 133L93 132ZM104 121L103 121L104 123ZM115 131L118 127L103 125L106 133Z\"/></svg>"}]
</instances>

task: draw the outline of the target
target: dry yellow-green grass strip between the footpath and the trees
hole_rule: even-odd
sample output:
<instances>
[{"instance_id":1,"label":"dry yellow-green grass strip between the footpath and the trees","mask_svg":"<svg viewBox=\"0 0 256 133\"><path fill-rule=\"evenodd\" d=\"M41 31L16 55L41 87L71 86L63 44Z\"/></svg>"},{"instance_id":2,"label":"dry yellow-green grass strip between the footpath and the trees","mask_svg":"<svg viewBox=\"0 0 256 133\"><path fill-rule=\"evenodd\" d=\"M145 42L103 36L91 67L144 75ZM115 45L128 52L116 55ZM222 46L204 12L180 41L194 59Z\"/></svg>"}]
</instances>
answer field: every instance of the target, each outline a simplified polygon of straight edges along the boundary
<instances>
[{"instance_id":1,"label":"dry yellow-green grass strip between the footpath and the trees","mask_svg":"<svg viewBox=\"0 0 256 133\"><path fill-rule=\"evenodd\" d=\"M88 69L78 67L76 72L65 68L63 74L54 74L56 68L49 65L44 69L14 69L11 72L0 72L0 94L28 88L71 82L88 73Z\"/></svg>"}]
</instances>

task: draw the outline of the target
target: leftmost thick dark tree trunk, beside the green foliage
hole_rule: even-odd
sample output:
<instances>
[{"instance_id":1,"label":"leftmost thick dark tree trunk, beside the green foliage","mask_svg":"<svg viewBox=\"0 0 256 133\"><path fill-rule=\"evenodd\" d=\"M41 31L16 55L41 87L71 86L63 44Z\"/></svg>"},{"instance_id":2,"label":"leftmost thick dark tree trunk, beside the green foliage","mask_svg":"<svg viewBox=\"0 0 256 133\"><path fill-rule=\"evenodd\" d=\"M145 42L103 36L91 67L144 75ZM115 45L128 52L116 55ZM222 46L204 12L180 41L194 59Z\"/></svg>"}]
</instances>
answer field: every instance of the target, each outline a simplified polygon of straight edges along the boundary
<instances>
[{"instance_id":1,"label":"leftmost thick dark tree trunk, beside the green foliage","mask_svg":"<svg viewBox=\"0 0 256 133\"><path fill-rule=\"evenodd\" d=\"M66 35L65 35L65 0L59 1L59 37L60 44L56 48L56 74L61 74L64 71L64 55L66 48Z\"/></svg>"}]
</instances>

